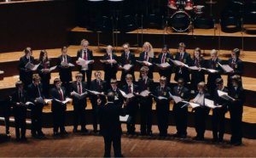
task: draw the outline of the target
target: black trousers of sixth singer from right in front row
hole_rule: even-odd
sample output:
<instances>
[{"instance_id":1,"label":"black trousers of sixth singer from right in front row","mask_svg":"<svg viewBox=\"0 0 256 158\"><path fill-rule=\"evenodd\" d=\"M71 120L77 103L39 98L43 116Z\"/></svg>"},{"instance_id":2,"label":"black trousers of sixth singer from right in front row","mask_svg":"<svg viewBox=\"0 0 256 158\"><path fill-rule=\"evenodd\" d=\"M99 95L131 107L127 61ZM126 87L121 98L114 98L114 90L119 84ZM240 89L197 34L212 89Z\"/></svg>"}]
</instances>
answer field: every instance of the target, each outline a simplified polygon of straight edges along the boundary
<instances>
[{"instance_id":1,"label":"black trousers of sixth singer from right in front row","mask_svg":"<svg viewBox=\"0 0 256 158\"><path fill-rule=\"evenodd\" d=\"M140 114L141 114L141 133L149 134L152 133L152 101L140 103Z\"/></svg>"}]
</instances>

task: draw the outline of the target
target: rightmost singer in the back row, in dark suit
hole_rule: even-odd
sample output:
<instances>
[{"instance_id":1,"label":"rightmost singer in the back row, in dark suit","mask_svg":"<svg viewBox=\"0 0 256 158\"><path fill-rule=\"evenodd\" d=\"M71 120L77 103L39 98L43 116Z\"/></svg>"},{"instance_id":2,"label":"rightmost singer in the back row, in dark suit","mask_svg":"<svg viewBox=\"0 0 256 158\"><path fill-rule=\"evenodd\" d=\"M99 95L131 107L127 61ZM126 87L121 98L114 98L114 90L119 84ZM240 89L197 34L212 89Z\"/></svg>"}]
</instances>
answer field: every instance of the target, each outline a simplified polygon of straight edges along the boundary
<instances>
[{"instance_id":1,"label":"rightmost singer in the back row, in dark suit","mask_svg":"<svg viewBox=\"0 0 256 158\"><path fill-rule=\"evenodd\" d=\"M243 64L240 56L239 48L234 48L231 52L231 58L228 60L228 64L234 71L228 73L228 87L232 87L232 76L239 75L241 76L243 73ZM242 85L241 85L242 86Z\"/></svg>"}]
</instances>

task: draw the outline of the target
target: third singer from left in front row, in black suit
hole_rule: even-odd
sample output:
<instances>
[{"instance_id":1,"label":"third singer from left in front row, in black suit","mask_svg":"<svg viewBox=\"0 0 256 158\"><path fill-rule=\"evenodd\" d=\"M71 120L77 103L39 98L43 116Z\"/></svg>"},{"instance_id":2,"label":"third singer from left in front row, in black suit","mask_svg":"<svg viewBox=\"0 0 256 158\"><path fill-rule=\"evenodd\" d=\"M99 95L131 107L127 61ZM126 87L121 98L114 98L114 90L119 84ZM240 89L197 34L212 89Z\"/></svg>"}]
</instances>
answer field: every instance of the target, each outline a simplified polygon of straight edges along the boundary
<instances>
[{"instance_id":1,"label":"third singer from left in front row, in black suit","mask_svg":"<svg viewBox=\"0 0 256 158\"><path fill-rule=\"evenodd\" d=\"M61 87L61 79L55 78L54 87L50 90L51 101L51 111L53 115L53 125L54 125L54 136L59 133L59 128L61 130L61 135L67 134L65 130L65 119L67 104L62 103L66 100L67 92L65 87Z\"/></svg>"}]
</instances>

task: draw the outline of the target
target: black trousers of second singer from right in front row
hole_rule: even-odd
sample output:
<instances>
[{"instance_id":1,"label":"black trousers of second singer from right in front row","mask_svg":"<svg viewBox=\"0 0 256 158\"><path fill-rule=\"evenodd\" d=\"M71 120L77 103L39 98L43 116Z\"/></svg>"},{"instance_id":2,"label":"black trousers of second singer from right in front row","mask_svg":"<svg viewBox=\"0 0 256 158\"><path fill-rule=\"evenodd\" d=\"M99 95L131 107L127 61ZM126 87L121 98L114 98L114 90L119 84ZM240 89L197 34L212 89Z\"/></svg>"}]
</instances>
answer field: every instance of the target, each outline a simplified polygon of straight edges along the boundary
<instances>
[{"instance_id":1,"label":"black trousers of second singer from right in front row","mask_svg":"<svg viewBox=\"0 0 256 158\"><path fill-rule=\"evenodd\" d=\"M212 112L212 137L214 140L223 140L225 131L226 108L213 109Z\"/></svg>"}]
</instances>

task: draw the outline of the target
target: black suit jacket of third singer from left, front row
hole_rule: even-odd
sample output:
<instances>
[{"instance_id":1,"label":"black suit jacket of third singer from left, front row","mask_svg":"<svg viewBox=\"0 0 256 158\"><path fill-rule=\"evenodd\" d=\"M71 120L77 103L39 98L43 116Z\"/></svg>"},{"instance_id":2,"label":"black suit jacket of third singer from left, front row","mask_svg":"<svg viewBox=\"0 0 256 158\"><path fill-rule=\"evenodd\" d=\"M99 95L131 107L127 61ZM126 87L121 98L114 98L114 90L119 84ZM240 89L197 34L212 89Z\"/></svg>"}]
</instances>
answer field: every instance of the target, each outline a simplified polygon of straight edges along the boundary
<instances>
[{"instance_id":1,"label":"black suit jacket of third singer from left, front row","mask_svg":"<svg viewBox=\"0 0 256 158\"><path fill-rule=\"evenodd\" d=\"M64 100L65 100L66 97L67 97L66 89L65 89L65 87L61 87L61 90L63 92L63 97L64 97ZM60 93L59 93L59 91L56 87L53 87L50 90L49 94L50 94L50 99L52 99L52 101L51 101L51 111L66 110L67 109L67 104L62 104L61 102L55 100L55 99L61 100Z\"/></svg>"}]
</instances>

